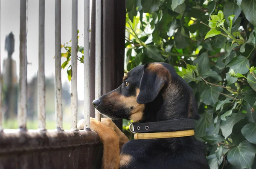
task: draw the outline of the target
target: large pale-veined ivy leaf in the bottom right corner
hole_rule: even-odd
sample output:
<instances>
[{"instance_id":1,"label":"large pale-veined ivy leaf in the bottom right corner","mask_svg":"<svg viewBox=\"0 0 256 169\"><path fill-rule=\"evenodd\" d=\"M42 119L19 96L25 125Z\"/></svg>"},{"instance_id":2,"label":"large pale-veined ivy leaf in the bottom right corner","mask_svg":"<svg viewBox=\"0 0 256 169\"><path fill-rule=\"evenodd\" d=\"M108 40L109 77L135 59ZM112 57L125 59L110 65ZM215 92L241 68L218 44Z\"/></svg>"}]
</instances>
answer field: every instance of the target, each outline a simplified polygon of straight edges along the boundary
<instances>
[{"instance_id":1,"label":"large pale-veined ivy leaf in the bottom right corner","mask_svg":"<svg viewBox=\"0 0 256 169\"><path fill-rule=\"evenodd\" d=\"M239 146L232 147L227 154L227 160L238 169L251 168L256 153L256 145L244 140Z\"/></svg>"}]
</instances>

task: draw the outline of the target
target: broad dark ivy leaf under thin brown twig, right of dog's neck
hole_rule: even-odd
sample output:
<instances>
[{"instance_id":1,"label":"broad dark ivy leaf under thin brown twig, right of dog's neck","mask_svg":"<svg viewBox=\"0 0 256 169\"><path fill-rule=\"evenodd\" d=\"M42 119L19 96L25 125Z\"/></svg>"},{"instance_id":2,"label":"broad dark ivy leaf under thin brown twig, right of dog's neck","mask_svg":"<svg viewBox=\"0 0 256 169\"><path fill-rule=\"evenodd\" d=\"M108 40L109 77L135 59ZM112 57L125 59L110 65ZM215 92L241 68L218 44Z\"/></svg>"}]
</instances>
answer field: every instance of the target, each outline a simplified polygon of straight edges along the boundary
<instances>
[{"instance_id":1,"label":"broad dark ivy leaf under thin brown twig, right of dog's neck","mask_svg":"<svg viewBox=\"0 0 256 169\"><path fill-rule=\"evenodd\" d=\"M220 95L218 92L223 92L223 88L218 86L207 86L205 88L201 93L201 101L207 105L214 106L218 102Z\"/></svg>"}]
</instances>

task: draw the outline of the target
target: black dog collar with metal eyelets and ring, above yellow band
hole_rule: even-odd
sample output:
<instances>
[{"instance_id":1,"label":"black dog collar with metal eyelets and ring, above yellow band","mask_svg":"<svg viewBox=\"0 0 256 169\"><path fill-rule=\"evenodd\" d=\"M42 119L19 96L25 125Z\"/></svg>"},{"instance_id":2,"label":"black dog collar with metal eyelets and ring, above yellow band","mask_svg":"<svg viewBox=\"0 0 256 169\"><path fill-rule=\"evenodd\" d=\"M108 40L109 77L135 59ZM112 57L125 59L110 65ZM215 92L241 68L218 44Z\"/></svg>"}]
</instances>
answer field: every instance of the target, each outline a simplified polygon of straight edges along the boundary
<instances>
[{"instance_id":1,"label":"black dog collar with metal eyelets and ring, above yellow band","mask_svg":"<svg viewBox=\"0 0 256 169\"><path fill-rule=\"evenodd\" d=\"M195 129L195 119L180 118L150 123L131 123L129 129L132 133L175 132Z\"/></svg>"}]
</instances>

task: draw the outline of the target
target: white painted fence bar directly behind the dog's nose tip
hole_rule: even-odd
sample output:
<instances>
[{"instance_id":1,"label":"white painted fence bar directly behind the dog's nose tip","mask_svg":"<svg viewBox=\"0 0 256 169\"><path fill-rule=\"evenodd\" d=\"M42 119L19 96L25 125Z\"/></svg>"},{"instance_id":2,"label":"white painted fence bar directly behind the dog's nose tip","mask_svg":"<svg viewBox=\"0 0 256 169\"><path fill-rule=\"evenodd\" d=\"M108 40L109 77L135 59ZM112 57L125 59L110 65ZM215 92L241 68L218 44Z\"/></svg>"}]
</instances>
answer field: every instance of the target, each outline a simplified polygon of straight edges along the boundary
<instances>
[{"instance_id":1,"label":"white painted fence bar directly behind the dog's nose tip","mask_svg":"<svg viewBox=\"0 0 256 169\"><path fill-rule=\"evenodd\" d=\"M101 96L101 19L102 0L96 0L96 38L95 38L95 98ZM100 114L95 111L96 120L100 120Z\"/></svg>"}]
</instances>

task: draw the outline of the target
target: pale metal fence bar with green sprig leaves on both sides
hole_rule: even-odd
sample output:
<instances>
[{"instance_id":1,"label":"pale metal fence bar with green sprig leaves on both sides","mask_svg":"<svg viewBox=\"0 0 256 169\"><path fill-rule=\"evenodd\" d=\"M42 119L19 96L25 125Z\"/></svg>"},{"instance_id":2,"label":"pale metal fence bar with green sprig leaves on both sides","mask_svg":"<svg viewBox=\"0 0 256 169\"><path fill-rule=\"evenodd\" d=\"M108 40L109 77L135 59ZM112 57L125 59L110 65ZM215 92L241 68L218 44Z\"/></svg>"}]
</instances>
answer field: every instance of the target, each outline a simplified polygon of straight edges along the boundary
<instances>
[{"instance_id":1,"label":"pale metal fence bar with green sprig leaves on both sides","mask_svg":"<svg viewBox=\"0 0 256 169\"><path fill-rule=\"evenodd\" d=\"M71 129L77 129L77 0L72 0Z\"/></svg>"}]
</instances>

